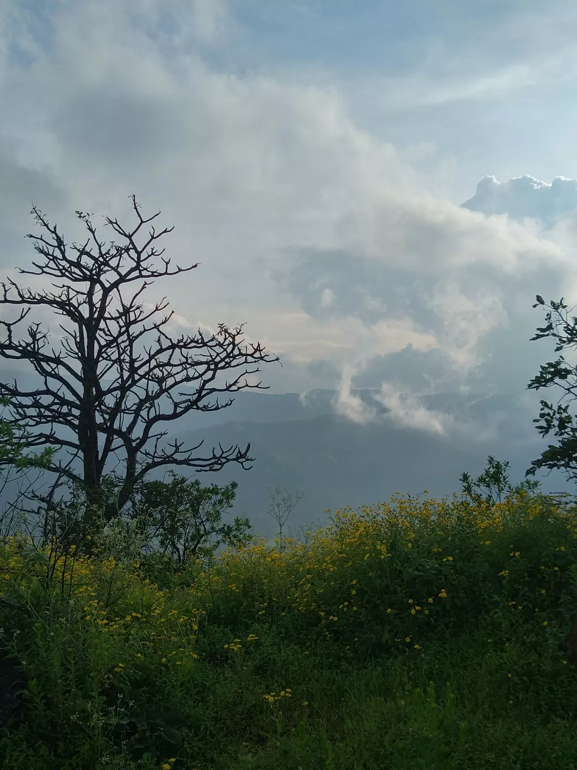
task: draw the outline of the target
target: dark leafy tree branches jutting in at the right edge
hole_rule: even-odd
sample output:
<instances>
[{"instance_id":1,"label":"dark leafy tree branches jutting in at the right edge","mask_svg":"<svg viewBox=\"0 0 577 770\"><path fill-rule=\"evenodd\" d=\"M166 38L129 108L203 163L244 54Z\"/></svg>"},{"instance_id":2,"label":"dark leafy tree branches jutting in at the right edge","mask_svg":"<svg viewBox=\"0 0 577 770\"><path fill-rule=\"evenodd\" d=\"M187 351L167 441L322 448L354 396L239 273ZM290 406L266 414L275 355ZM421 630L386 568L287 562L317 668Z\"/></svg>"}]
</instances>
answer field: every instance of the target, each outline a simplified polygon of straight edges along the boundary
<instances>
[{"instance_id":1,"label":"dark leafy tree branches jutting in at the right edge","mask_svg":"<svg viewBox=\"0 0 577 770\"><path fill-rule=\"evenodd\" d=\"M539 294L535 299L537 303L533 307L538 305L545 305L545 300ZM545 326L537 327L539 334L531 337L531 341L540 340L543 337L552 336L558 341L555 347L555 353L559 353L564 348L573 347L577 344L577 317L573 316L572 321L569 321L567 313L562 313L567 309L567 306L563 303L563 297L560 302L551 300L549 313L545 316ZM557 317L553 319L553 312ZM559 328L562 328L563 333L559 333ZM570 367L565 359L560 356L556 361L545 363L540 367L539 374L531 380L527 386L527 390L539 390L542 387L550 387L551 385L558 385L565 390L566 396L572 396L575 398L575 385L577 385L577 369ZM552 430L554 435L561 438L558 445L549 444L549 448L546 449L538 460L532 460L528 470L525 471L525 476L534 476L538 468L549 468L549 473L553 468L563 468L567 472L569 479L577 479L577 429L573 423L573 417L569 414L569 405L562 405L559 401L556 409L552 403L542 400L542 410L539 413L539 418L533 420L534 423L543 422L543 425L535 426L539 433L543 437L547 436ZM549 474L548 474L549 475Z\"/></svg>"}]
</instances>

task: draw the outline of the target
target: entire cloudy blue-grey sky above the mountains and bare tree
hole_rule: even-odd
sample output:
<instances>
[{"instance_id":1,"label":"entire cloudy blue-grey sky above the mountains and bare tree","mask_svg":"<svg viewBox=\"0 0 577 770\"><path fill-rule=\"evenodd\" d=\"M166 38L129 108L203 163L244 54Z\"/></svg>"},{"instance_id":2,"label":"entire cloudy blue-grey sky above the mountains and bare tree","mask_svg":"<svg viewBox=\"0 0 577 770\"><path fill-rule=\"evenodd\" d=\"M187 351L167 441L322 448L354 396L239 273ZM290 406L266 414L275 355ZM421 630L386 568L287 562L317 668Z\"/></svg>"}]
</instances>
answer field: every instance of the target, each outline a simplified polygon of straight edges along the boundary
<instances>
[{"instance_id":1,"label":"entire cloudy blue-grey sky above the mountains and bare tree","mask_svg":"<svg viewBox=\"0 0 577 770\"><path fill-rule=\"evenodd\" d=\"M575 32L569 0L4 0L0 270L37 285L32 203L79 242L134 193L199 263L150 301L245 323L270 392L362 422L372 387L434 433L424 393L538 404L535 294L577 303Z\"/></svg>"}]
</instances>

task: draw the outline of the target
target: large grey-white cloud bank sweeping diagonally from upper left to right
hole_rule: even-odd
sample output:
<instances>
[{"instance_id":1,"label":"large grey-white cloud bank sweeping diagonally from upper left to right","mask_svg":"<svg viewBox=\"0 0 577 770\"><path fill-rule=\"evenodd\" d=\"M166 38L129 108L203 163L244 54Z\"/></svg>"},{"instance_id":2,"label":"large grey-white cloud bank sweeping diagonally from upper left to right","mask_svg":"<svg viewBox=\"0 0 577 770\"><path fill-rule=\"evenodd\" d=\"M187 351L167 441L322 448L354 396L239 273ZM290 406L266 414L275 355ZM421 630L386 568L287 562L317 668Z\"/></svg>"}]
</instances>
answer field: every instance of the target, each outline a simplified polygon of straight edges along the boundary
<instances>
[{"instance_id":1,"label":"large grey-white cloud bank sweeping diagonally from upper left to right","mask_svg":"<svg viewBox=\"0 0 577 770\"><path fill-rule=\"evenodd\" d=\"M80 241L75 209L129 225L135 192L143 213L175 225L167 254L200 263L158 283L179 328L246 322L247 339L282 358L265 384L338 386L351 419L382 418L353 397L363 377L390 419L433 433L452 425L422 411L422 393L525 387L542 360L529 343L535 293L575 296L565 247L538 224L433 195L355 124L336 85L215 65L207 46L239 34L222 2L46 8L32 28L13 0L9 34L26 55L2 48L2 195L23 191L3 227L29 232L31 196ZM13 243L5 270L29 263L30 242Z\"/></svg>"}]
</instances>

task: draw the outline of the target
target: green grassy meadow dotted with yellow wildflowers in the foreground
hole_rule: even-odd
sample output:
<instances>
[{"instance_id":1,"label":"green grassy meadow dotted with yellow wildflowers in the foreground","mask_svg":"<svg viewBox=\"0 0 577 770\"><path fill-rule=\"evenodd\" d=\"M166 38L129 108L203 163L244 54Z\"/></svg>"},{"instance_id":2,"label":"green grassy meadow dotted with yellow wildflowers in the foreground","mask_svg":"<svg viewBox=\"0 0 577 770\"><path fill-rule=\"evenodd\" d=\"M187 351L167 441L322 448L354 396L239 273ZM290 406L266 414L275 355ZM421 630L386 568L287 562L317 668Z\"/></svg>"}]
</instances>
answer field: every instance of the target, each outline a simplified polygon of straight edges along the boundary
<instances>
[{"instance_id":1,"label":"green grassy meadow dotted with yellow wildflowers in the foreground","mask_svg":"<svg viewBox=\"0 0 577 770\"><path fill-rule=\"evenodd\" d=\"M210 568L9 543L25 686L0 766L577 768L577 511L455 497L338 511Z\"/></svg>"}]
</instances>

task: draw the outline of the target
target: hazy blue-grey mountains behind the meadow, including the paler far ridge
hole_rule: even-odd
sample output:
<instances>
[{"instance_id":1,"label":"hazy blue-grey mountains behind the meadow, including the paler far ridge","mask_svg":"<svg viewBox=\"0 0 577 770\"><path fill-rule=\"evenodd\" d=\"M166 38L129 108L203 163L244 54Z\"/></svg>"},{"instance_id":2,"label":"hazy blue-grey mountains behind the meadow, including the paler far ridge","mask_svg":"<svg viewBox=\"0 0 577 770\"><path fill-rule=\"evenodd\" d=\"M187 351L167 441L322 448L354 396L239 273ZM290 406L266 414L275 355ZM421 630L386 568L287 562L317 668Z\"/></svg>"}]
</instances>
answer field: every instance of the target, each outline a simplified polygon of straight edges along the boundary
<instances>
[{"instance_id":1,"label":"hazy blue-grey mountains behind the meadow, including the paler far ridge","mask_svg":"<svg viewBox=\"0 0 577 770\"><path fill-rule=\"evenodd\" d=\"M372 404L378 391L357 391ZM485 470L488 454L509 460L509 480L517 484L525 477L531 460L546 448L528 419L526 407L515 397L436 393L423 397L432 409L459 413L483 423L501 415L498 436L474 441L466 437L439 437L412 427L395 426L388 420L360 425L332 413L335 391L312 391L306 399L296 393L238 393L242 398L213 415L228 417L219 423L185 430L179 423L178 437L187 446L204 440L205 454L212 447L251 444L255 458L252 469L228 464L217 474L199 474L202 484L227 484L238 480L237 499L232 515L248 516L256 531L272 534L272 519L266 514L270 503L267 487L278 480L289 491L305 494L292 512L288 525L299 527L312 521L326 521L324 511L350 505L389 502L395 492L416 495L425 489L429 497L451 498L460 494L459 477L467 471L475 479ZM302 401L305 401L303 404ZM517 401L519 401L517 399ZM236 409L233 411L234 407ZM384 410L384 407L383 407ZM385 412L387 410L384 410ZM299 419L299 414L307 417ZM236 419L230 419L233 415ZM243 417L251 419L242 419ZM282 417L287 419L282 420ZM526 426L525 426L526 420ZM572 492L565 476L537 477L542 491Z\"/></svg>"}]
</instances>

